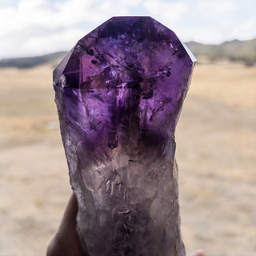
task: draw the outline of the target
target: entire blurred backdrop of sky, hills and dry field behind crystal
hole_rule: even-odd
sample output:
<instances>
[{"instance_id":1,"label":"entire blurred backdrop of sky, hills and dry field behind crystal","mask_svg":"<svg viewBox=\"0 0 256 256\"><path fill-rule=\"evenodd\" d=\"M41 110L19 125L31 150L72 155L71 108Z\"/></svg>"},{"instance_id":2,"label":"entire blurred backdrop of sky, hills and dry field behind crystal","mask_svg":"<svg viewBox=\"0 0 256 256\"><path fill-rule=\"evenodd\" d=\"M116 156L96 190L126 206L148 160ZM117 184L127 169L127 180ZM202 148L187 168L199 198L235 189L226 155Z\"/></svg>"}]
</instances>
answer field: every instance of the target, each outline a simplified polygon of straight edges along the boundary
<instances>
[{"instance_id":1,"label":"entire blurred backdrop of sky, hills and dry field behind crystal","mask_svg":"<svg viewBox=\"0 0 256 256\"><path fill-rule=\"evenodd\" d=\"M198 58L178 122L187 252L256 255L256 1L0 0L0 255L45 255L70 198L52 70L106 19L145 15Z\"/></svg>"}]
</instances>

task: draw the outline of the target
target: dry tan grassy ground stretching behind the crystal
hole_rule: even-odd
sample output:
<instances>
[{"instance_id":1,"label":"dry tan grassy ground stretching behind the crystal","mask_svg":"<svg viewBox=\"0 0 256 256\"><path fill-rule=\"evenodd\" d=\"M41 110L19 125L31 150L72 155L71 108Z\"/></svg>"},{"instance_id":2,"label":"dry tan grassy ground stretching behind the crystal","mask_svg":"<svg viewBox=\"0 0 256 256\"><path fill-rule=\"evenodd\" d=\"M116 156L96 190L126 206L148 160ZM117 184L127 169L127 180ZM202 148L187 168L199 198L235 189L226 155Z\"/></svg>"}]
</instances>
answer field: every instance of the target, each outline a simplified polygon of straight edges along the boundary
<instances>
[{"instance_id":1,"label":"dry tan grassy ground stretching behind the crystal","mask_svg":"<svg viewBox=\"0 0 256 256\"><path fill-rule=\"evenodd\" d=\"M53 67L0 70L0 255L45 255L71 190ZM198 63L178 122L187 252L256 255L256 67Z\"/></svg>"}]
</instances>

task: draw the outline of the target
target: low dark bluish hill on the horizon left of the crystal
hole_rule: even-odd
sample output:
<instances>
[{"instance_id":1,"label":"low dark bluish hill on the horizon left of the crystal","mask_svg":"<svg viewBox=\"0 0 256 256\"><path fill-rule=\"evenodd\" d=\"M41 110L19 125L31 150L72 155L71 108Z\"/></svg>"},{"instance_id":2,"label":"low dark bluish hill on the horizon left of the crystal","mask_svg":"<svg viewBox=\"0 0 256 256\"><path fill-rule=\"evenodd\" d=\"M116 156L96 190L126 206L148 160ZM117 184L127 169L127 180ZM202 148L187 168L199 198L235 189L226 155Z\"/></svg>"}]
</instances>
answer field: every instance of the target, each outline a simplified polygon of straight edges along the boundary
<instances>
[{"instance_id":1,"label":"low dark bluish hill on the horizon left of the crystal","mask_svg":"<svg viewBox=\"0 0 256 256\"><path fill-rule=\"evenodd\" d=\"M66 52L62 51L54 54L46 54L28 58L6 58L0 60L0 67L17 67L18 69L27 69L45 63L55 64L58 59L63 58L65 55Z\"/></svg>"}]
</instances>

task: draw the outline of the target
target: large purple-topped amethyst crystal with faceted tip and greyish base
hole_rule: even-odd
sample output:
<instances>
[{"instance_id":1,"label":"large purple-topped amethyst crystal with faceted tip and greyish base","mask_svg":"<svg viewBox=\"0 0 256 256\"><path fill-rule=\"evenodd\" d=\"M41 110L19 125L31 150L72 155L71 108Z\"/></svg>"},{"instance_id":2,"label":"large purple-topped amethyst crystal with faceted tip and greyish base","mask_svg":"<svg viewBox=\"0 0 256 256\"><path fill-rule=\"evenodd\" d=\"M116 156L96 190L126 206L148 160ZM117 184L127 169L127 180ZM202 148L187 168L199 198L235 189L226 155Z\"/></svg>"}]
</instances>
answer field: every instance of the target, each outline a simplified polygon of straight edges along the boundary
<instances>
[{"instance_id":1,"label":"large purple-topped amethyst crystal with faceted tip and greyish base","mask_svg":"<svg viewBox=\"0 0 256 256\"><path fill-rule=\"evenodd\" d=\"M153 18L114 17L54 70L84 255L185 255L174 130L194 61Z\"/></svg>"}]
</instances>

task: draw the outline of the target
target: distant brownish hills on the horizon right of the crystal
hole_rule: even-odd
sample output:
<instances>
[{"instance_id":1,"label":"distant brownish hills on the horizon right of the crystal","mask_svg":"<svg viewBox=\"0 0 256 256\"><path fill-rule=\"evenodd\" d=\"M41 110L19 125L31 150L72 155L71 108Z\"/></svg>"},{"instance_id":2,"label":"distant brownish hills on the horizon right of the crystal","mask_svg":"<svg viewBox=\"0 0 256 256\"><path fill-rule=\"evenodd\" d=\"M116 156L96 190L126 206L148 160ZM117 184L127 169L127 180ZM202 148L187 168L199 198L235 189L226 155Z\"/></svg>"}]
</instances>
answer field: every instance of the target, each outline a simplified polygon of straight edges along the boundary
<instances>
[{"instance_id":1,"label":"distant brownish hills on the horizon right of the crystal","mask_svg":"<svg viewBox=\"0 0 256 256\"><path fill-rule=\"evenodd\" d=\"M211 61L228 59L232 62L244 62L248 66L256 64L256 38L247 41L233 40L219 45L186 42L186 46L196 57L205 56Z\"/></svg>"}]
</instances>

